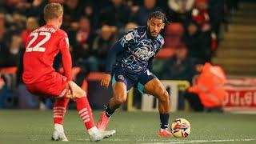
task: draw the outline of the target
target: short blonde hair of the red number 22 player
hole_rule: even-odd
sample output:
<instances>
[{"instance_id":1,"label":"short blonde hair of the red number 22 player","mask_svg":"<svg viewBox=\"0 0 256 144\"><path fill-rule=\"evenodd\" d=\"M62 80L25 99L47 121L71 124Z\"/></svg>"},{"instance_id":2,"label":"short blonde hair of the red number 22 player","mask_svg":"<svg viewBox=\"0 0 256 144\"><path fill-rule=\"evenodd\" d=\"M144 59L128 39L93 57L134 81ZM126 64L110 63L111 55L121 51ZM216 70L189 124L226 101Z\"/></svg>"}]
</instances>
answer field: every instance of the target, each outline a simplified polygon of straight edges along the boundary
<instances>
[{"instance_id":1,"label":"short blonde hair of the red number 22 player","mask_svg":"<svg viewBox=\"0 0 256 144\"><path fill-rule=\"evenodd\" d=\"M63 15L63 7L59 3L49 3L45 6L44 10L45 21L58 18Z\"/></svg>"}]
</instances>

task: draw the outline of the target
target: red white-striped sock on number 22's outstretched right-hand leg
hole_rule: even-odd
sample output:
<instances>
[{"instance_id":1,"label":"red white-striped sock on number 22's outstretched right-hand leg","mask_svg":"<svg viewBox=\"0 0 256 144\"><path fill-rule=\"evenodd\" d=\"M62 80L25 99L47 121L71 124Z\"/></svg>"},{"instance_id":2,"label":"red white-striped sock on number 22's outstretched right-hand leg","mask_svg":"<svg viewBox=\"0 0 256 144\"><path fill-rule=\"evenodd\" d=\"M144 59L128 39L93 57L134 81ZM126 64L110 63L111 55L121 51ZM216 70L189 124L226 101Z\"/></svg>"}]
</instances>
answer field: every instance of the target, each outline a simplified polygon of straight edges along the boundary
<instances>
[{"instance_id":1,"label":"red white-striped sock on number 22's outstretched right-hand leg","mask_svg":"<svg viewBox=\"0 0 256 144\"><path fill-rule=\"evenodd\" d=\"M94 127L94 118L87 97L77 98L75 102L77 103L78 114L82 118L86 129L89 130Z\"/></svg>"}]
</instances>

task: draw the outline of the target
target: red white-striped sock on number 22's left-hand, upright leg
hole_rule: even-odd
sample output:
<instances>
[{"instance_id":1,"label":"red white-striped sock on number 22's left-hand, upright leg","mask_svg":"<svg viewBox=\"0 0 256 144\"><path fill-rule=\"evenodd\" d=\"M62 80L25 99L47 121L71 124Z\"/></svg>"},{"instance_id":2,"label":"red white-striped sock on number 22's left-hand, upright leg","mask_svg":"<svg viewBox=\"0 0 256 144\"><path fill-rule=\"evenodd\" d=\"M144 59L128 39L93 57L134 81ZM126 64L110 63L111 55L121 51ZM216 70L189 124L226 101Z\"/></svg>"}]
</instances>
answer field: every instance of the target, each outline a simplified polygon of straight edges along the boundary
<instances>
[{"instance_id":1,"label":"red white-striped sock on number 22's left-hand, upright leg","mask_svg":"<svg viewBox=\"0 0 256 144\"><path fill-rule=\"evenodd\" d=\"M70 102L69 98L58 98L54 102L54 124L63 123L63 118L66 113L66 106Z\"/></svg>"}]
</instances>

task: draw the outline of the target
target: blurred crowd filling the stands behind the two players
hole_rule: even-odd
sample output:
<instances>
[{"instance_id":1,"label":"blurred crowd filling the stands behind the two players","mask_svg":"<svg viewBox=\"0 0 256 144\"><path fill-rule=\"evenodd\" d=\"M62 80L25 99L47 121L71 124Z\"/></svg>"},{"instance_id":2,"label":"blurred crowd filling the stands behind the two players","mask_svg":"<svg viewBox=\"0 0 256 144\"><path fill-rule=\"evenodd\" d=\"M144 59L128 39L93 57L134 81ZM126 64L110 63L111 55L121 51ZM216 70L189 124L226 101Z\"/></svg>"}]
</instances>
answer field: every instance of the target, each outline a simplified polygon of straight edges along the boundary
<instances>
[{"instance_id":1,"label":"blurred crowd filling the stands behind the two players","mask_svg":"<svg viewBox=\"0 0 256 144\"><path fill-rule=\"evenodd\" d=\"M18 66L18 83L22 82L26 39L45 24L43 7L47 2L60 2L64 7L62 29L70 38L73 65L81 68L78 76L104 71L106 54L114 42L127 30L145 26L149 14L161 10L170 22L162 31L164 49L172 54L157 57L154 73L161 79L189 82L197 64L210 62L222 40L221 31L238 9L238 0L1 0L0 69ZM61 67L57 56L54 68Z\"/></svg>"}]
</instances>

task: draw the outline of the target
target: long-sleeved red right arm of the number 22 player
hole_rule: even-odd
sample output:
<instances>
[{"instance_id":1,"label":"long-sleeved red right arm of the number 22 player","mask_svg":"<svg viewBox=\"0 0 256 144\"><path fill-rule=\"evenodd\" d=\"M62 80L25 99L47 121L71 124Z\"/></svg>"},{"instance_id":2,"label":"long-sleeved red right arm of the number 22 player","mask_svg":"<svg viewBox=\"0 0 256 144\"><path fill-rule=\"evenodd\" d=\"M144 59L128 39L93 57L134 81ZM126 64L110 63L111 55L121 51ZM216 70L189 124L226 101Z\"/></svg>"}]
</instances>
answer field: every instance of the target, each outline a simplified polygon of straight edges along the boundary
<instances>
[{"instance_id":1,"label":"long-sleeved red right arm of the number 22 player","mask_svg":"<svg viewBox=\"0 0 256 144\"><path fill-rule=\"evenodd\" d=\"M64 73L67 81L72 80L72 58L70 54L70 46L67 37L63 37L59 41L59 49L62 54L62 64L64 68Z\"/></svg>"}]
</instances>

